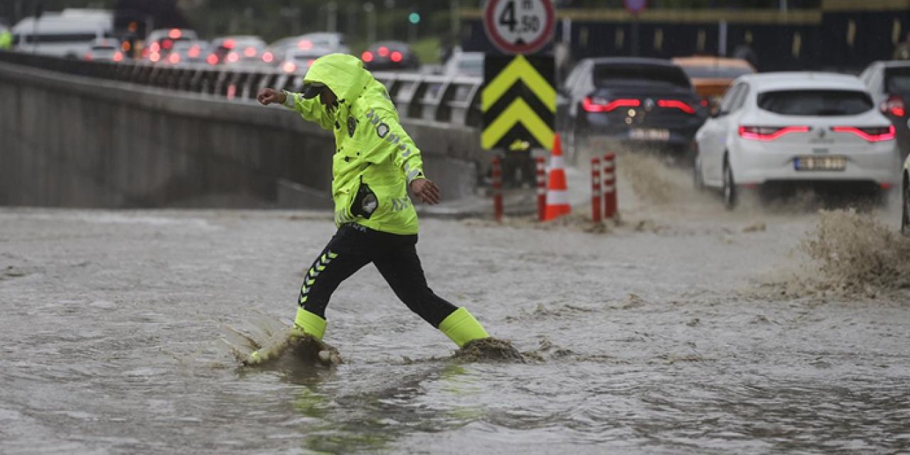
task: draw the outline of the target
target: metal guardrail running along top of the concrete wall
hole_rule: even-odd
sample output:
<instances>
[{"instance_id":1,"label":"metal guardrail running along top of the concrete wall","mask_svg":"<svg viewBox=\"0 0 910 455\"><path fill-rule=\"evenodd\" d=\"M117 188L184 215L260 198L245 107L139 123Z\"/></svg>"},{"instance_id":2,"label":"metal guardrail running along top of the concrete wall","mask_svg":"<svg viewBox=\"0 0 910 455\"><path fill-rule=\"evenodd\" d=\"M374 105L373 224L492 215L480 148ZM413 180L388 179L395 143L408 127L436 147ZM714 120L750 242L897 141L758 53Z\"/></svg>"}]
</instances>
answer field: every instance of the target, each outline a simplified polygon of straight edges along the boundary
<instances>
[{"instance_id":1,"label":"metal guardrail running along top of the concrete wall","mask_svg":"<svg viewBox=\"0 0 910 455\"><path fill-rule=\"evenodd\" d=\"M228 99L256 99L265 87L300 91L303 77L271 68L162 66L145 62L101 62L0 52L0 62L35 66L74 76L97 77ZM480 127L480 77L373 73L389 90L404 118Z\"/></svg>"}]
</instances>

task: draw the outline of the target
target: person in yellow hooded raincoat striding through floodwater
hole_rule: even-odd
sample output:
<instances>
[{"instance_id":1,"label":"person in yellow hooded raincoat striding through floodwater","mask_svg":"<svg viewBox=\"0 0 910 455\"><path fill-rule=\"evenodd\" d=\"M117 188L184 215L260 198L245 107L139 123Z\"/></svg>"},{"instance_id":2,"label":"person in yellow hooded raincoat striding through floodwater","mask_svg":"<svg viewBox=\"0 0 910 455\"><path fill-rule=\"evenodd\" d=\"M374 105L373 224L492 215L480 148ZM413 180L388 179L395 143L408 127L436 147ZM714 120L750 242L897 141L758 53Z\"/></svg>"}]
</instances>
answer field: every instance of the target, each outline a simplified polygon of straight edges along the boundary
<instances>
[{"instance_id":1,"label":"person in yellow hooded raincoat striding through floodwater","mask_svg":"<svg viewBox=\"0 0 910 455\"><path fill-rule=\"evenodd\" d=\"M440 201L440 188L424 175L420 149L400 125L386 87L363 63L355 56L322 56L309 67L301 93L263 88L258 102L287 106L335 136L331 190L338 231L308 269L292 333L322 339L332 292L373 263L411 311L459 348L489 338L467 308L455 307L427 284L408 188L427 204Z\"/></svg>"}]
</instances>

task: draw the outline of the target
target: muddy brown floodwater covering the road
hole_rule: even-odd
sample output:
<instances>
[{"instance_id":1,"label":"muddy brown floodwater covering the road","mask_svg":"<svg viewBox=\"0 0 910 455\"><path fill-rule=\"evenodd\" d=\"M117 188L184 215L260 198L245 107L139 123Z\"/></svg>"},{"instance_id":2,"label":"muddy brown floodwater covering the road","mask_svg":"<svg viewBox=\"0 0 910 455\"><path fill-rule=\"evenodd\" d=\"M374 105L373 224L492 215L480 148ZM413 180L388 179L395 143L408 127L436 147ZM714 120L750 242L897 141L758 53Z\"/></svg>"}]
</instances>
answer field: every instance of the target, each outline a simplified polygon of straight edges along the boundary
<instances>
[{"instance_id":1,"label":"muddy brown floodwater covering the road","mask_svg":"<svg viewBox=\"0 0 910 455\"><path fill-rule=\"evenodd\" d=\"M328 217L0 210L0 452L910 450L907 290L816 292L822 216L634 172L600 234L423 220L430 285L526 362L453 357L365 268L329 307L345 363L238 369L225 328L289 322Z\"/></svg>"}]
</instances>

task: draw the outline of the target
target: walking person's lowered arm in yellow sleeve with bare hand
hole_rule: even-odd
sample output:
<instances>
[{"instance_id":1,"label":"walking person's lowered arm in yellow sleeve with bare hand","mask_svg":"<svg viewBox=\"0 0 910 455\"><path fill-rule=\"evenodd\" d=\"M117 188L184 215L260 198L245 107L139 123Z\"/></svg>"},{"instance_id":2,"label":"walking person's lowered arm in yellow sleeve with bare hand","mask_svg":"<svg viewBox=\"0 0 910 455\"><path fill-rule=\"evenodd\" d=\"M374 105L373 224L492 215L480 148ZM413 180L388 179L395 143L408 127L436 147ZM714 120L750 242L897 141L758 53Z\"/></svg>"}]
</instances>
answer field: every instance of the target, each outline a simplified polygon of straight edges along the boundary
<instances>
[{"instance_id":1,"label":"walking person's lowered arm in yellow sleeve with bare hand","mask_svg":"<svg viewBox=\"0 0 910 455\"><path fill-rule=\"evenodd\" d=\"M414 196L427 204L440 202L440 188L423 174L420 148L401 126L397 116L370 109L367 120L370 146L375 146L370 147L367 161L379 163L389 157L392 164L401 169Z\"/></svg>"}]
</instances>

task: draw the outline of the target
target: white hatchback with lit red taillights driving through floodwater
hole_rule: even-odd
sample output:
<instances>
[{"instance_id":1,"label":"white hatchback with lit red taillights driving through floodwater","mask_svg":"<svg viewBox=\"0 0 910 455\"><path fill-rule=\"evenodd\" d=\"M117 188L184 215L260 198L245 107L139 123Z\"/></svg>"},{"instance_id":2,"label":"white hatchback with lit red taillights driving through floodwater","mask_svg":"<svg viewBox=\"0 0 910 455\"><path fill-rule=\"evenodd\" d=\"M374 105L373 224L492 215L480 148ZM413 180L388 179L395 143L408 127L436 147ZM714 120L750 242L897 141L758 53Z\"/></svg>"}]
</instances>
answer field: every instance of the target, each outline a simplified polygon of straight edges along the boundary
<instances>
[{"instance_id":1,"label":"white hatchback with lit red taillights driving through floodwater","mask_svg":"<svg viewBox=\"0 0 910 455\"><path fill-rule=\"evenodd\" d=\"M743 187L857 185L882 192L899 181L895 127L855 76L738 77L695 142L695 185L722 189L728 208Z\"/></svg>"}]
</instances>

